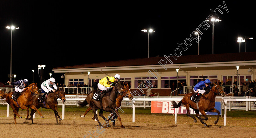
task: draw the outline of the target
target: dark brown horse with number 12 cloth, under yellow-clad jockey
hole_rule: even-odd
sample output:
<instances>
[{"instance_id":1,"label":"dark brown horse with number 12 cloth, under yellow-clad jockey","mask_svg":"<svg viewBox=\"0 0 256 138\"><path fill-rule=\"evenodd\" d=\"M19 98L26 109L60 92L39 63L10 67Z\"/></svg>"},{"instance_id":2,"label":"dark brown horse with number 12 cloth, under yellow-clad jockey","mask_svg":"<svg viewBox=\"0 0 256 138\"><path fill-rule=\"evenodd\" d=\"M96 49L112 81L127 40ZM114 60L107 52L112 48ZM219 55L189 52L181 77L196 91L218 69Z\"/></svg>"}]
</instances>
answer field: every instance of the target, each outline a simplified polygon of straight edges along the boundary
<instances>
[{"instance_id":1,"label":"dark brown horse with number 12 cloth, under yellow-clad jockey","mask_svg":"<svg viewBox=\"0 0 256 138\"><path fill-rule=\"evenodd\" d=\"M94 96L94 92L98 91L98 90L92 90L85 98L84 102L81 102L80 100L77 100L77 104L80 107L84 107L89 103L89 106L91 107L91 109L93 110L94 113L94 118L98 121L99 125L101 125L98 116L96 114L96 109L100 109L100 113L99 116L101 116L104 120L107 120L104 116L103 116L103 110L105 110L106 112L110 112L112 114L114 114L114 116L117 116L115 113L115 108L116 108L116 98L118 93L120 95L123 95L123 86L120 82L115 83L115 86L113 89L111 89L110 92L106 93L104 97L102 97L101 101L102 101L102 107L100 105L100 101L96 101L94 99L92 99L92 97ZM102 110L103 109L103 110Z\"/></svg>"}]
</instances>

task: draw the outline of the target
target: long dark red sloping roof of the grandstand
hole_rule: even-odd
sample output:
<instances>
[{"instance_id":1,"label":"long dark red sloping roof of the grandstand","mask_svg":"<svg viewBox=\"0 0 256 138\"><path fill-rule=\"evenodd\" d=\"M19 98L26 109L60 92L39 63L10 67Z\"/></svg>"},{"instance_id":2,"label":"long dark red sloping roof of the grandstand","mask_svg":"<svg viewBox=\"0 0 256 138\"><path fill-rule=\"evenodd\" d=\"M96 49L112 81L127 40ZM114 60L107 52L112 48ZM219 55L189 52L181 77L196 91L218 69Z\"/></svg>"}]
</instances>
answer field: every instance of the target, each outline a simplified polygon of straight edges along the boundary
<instances>
[{"instance_id":1,"label":"long dark red sloping roof of the grandstand","mask_svg":"<svg viewBox=\"0 0 256 138\"><path fill-rule=\"evenodd\" d=\"M111 61L111 62L101 62L101 63L84 64L84 65L76 65L76 66L57 67L54 69L159 65L158 62L161 59L166 60L165 57L127 59L127 60L119 60L119 61ZM189 55L189 56L176 57L177 60L174 60L172 57L169 57L169 59L173 62L173 64L251 61L251 60L256 60L256 52L209 54L209 55ZM168 60L166 60L166 61L167 61L167 64L171 64Z\"/></svg>"}]
</instances>

